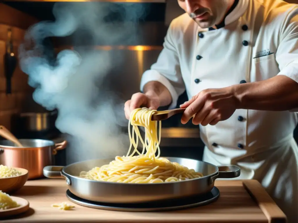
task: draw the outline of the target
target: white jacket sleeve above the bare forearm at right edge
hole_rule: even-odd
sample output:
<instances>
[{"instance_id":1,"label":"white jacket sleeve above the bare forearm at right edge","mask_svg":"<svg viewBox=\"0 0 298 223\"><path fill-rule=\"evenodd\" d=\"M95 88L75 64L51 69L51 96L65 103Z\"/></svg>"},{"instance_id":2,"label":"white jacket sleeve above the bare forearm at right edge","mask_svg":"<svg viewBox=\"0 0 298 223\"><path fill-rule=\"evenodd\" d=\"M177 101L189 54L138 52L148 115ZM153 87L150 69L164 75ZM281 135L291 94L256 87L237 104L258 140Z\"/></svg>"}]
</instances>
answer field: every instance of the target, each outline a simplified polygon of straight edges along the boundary
<instances>
[{"instance_id":1,"label":"white jacket sleeve above the bare forearm at right edge","mask_svg":"<svg viewBox=\"0 0 298 223\"><path fill-rule=\"evenodd\" d=\"M276 61L280 72L298 83L298 6L291 9L282 26L281 42L277 48ZM297 89L298 91L298 89ZM297 109L291 112L298 112Z\"/></svg>"}]
</instances>

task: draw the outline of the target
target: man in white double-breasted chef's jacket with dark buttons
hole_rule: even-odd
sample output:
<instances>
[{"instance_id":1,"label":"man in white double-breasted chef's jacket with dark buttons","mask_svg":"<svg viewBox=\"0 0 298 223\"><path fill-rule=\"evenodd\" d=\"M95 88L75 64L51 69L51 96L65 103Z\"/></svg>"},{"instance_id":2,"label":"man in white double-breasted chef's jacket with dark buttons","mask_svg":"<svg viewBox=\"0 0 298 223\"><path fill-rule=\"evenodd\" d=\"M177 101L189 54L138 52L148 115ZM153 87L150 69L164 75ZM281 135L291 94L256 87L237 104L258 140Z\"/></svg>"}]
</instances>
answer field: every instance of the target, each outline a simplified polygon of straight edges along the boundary
<instances>
[{"instance_id":1,"label":"man in white double-breasted chef's jacket with dark buttons","mask_svg":"<svg viewBox=\"0 0 298 223\"><path fill-rule=\"evenodd\" d=\"M298 222L298 5L281 0L178 0L158 60L141 80L135 108L176 107L200 124L203 161L237 165Z\"/></svg>"}]
</instances>

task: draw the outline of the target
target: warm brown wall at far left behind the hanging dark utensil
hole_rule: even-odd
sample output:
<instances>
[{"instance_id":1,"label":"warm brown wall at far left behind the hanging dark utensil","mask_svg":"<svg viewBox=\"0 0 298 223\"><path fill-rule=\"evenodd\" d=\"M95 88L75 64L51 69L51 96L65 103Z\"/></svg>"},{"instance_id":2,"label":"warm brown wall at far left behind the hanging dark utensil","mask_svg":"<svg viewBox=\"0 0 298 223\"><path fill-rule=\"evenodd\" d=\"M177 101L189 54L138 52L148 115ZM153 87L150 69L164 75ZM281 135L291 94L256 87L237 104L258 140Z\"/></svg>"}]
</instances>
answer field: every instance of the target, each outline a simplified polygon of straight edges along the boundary
<instances>
[{"instance_id":1,"label":"warm brown wall at far left behind the hanging dark utensil","mask_svg":"<svg viewBox=\"0 0 298 223\"><path fill-rule=\"evenodd\" d=\"M12 115L21 111L25 98L32 95L33 89L27 84L28 75L17 65L11 79L12 94L6 95L3 56L6 52L7 30L12 30L13 52L18 55L18 47L26 29L37 22L32 16L0 3L0 125L8 129L11 129Z\"/></svg>"}]
</instances>

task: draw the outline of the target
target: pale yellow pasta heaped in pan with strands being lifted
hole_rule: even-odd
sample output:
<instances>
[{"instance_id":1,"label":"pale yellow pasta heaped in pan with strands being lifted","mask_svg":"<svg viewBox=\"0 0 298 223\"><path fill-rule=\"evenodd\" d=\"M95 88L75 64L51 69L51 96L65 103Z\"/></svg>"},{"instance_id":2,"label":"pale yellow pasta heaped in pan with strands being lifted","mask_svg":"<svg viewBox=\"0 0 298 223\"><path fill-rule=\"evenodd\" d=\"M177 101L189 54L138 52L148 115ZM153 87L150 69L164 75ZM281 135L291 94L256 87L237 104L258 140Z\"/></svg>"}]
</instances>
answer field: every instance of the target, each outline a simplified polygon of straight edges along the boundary
<instances>
[{"instance_id":1,"label":"pale yellow pasta heaped in pan with strands being lifted","mask_svg":"<svg viewBox=\"0 0 298 223\"><path fill-rule=\"evenodd\" d=\"M128 133L130 147L126 156L116 156L114 161L102 167L94 167L88 172L82 171L81 178L97 181L120 183L164 183L200 178L203 175L193 169L159 158L161 138L161 122L152 121L151 116L156 110L147 108L135 109L130 116ZM130 125L133 126L132 134ZM145 127L145 140L138 126ZM159 136L158 136L159 135ZM139 141L143 145L142 153L137 150ZM131 153L131 148L134 150ZM156 155L157 152L157 155ZM130 154L131 153L131 154ZM138 154L137 156L134 156Z\"/></svg>"}]
</instances>

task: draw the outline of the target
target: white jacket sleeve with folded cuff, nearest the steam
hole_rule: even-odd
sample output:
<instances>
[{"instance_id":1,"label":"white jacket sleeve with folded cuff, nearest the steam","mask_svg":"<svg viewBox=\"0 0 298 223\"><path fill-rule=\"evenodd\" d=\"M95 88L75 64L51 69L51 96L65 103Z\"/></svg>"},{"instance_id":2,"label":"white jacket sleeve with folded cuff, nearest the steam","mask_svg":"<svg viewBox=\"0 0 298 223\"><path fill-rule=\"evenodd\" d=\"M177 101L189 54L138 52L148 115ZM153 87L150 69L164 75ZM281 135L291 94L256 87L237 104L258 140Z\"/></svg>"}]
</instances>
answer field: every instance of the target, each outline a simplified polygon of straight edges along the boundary
<instances>
[{"instance_id":1,"label":"white jacket sleeve with folded cuff, nearest the steam","mask_svg":"<svg viewBox=\"0 0 298 223\"><path fill-rule=\"evenodd\" d=\"M172 22L164 38L164 48L159 54L157 62L150 67L150 70L146 70L143 73L140 86L141 91L143 91L144 85L150 81L159 81L162 83L172 96L172 103L169 109L176 107L179 95L185 91L174 38Z\"/></svg>"}]
</instances>

